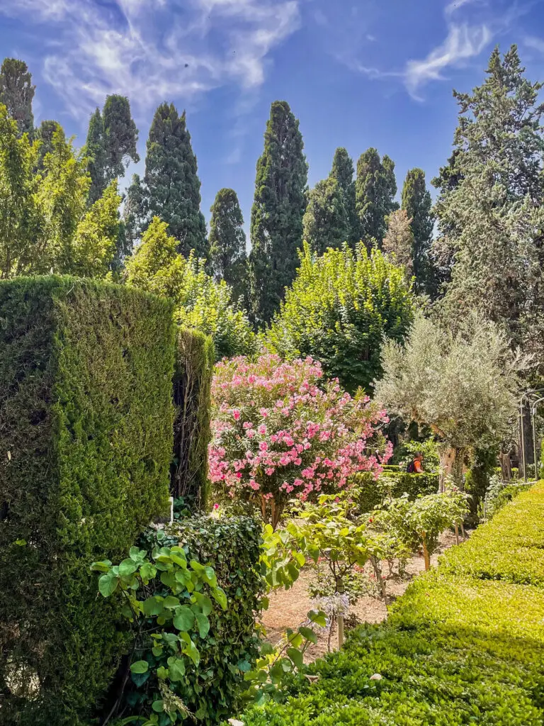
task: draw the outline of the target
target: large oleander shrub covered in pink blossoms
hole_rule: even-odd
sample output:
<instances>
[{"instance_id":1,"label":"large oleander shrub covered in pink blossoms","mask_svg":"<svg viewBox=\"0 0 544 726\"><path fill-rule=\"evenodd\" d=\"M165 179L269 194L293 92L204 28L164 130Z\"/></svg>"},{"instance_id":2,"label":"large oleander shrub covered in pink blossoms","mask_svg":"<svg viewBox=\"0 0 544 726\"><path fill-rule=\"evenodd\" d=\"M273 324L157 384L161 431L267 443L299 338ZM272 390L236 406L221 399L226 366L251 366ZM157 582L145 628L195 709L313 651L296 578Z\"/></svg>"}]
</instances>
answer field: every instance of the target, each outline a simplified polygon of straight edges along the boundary
<instances>
[{"instance_id":1,"label":"large oleander shrub covered in pink blossoms","mask_svg":"<svg viewBox=\"0 0 544 726\"><path fill-rule=\"evenodd\" d=\"M379 433L385 412L324 380L311 358L224 360L215 367L212 407L215 492L257 505L274 527L289 499L335 492L358 471L377 478L391 455Z\"/></svg>"}]
</instances>

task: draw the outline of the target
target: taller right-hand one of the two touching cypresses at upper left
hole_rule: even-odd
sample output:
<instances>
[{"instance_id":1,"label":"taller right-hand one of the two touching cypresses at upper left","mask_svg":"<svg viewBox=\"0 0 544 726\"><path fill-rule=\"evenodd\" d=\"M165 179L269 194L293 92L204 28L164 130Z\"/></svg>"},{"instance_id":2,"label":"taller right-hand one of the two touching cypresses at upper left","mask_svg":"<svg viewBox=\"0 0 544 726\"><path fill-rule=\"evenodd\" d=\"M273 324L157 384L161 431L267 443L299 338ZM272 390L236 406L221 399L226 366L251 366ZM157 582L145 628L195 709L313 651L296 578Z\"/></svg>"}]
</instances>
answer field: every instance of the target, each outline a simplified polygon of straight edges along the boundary
<instances>
[{"instance_id":1,"label":"taller right-hand one of the two touching cypresses at upper left","mask_svg":"<svg viewBox=\"0 0 544 726\"><path fill-rule=\"evenodd\" d=\"M108 96L102 110L106 184L125 176L129 160L138 163L138 129L131 116L131 105L124 96Z\"/></svg>"}]
</instances>

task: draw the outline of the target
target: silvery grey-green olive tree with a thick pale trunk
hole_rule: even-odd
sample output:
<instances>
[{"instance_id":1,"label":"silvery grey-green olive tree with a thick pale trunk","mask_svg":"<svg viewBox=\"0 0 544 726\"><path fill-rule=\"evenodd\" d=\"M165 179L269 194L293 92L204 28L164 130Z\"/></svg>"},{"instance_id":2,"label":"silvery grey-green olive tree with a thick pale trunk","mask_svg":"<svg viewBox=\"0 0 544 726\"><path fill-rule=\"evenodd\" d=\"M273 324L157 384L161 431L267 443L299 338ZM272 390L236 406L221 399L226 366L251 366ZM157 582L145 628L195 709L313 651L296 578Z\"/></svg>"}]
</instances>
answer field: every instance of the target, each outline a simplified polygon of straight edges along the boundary
<instances>
[{"instance_id":1,"label":"silvery grey-green olive tree with a thick pale trunk","mask_svg":"<svg viewBox=\"0 0 544 726\"><path fill-rule=\"evenodd\" d=\"M448 476L462 486L466 457L508 433L523 362L490 322L471 317L453 334L418 316L404 345L384 343L376 398L390 414L432 429L441 486Z\"/></svg>"}]
</instances>

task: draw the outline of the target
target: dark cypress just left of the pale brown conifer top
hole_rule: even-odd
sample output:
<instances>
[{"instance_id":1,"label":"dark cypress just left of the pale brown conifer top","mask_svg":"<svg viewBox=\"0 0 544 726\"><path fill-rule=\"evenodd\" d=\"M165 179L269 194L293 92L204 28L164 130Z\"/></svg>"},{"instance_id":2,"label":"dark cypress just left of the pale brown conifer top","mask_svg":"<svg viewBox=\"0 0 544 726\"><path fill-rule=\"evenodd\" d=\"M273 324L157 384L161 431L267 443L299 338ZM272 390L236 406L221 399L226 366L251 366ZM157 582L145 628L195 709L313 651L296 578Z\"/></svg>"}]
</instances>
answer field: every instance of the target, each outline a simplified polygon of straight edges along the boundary
<instances>
[{"instance_id":1,"label":"dark cypress just left of the pale brown conifer top","mask_svg":"<svg viewBox=\"0 0 544 726\"><path fill-rule=\"evenodd\" d=\"M382 245L386 217L398 208L395 202L397 181L395 163L387 156L380 159L376 149L360 155L355 182L355 205L360 224L360 239L367 246L376 240Z\"/></svg>"}]
</instances>

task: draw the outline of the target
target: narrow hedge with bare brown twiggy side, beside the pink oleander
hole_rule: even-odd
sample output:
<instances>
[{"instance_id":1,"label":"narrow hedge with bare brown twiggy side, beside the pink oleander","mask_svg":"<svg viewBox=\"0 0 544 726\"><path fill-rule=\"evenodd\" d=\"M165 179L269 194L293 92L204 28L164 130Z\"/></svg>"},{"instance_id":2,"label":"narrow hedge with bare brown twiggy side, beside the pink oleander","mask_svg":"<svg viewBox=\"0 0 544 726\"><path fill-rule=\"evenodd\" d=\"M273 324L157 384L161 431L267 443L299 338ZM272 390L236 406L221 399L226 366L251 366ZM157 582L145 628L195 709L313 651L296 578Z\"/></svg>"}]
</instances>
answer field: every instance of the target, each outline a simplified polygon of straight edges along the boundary
<instances>
[{"instance_id":1,"label":"narrow hedge with bare brown twiggy side, beside the pink oleander","mask_svg":"<svg viewBox=\"0 0 544 726\"><path fill-rule=\"evenodd\" d=\"M207 446L210 443L210 388L213 340L180 328L174 371L174 457L170 489L195 509L207 502Z\"/></svg>"}]
</instances>

